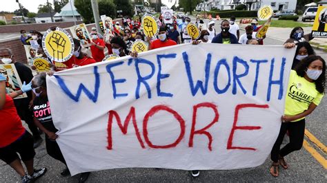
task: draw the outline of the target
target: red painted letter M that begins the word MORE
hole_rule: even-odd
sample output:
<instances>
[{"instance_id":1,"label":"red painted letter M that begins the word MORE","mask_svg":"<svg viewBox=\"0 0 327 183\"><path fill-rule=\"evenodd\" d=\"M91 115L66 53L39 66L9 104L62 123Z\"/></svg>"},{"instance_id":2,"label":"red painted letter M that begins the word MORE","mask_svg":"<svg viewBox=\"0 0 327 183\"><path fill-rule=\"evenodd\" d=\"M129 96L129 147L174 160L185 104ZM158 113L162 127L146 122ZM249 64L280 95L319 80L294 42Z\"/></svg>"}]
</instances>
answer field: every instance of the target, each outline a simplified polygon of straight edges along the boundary
<instances>
[{"instance_id":1,"label":"red painted letter M that begins the word MORE","mask_svg":"<svg viewBox=\"0 0 327 183\"><path fill-rule=\"evenodd\" d=\"M108 146L107 149L111 150L112 149L112 118L116 118L117 120L117 124L118 127L121 129L121 132L123 132L123 134L125 135L127 133L127 129L128 129L128 124L130 122L130 118L132 118L132 123L134 125L134 129L135 129L135 133L137 136L137 140L139 140L139 144L141 145L141 147L144 149L146 147L144 147L143 141L141 139L141 135L139 133L139 128L137 127L137 121L135 118L135 108L134 107L130 107L130 112L128 113L128 115L126 116L125 121L123 122L123 125L121 124L121 119L119 117L119 115L117 114L116 111L109 111L109 120L108 120L108 127L107 127L107 131L108 131Z\"/></svg>"}]
</instances>

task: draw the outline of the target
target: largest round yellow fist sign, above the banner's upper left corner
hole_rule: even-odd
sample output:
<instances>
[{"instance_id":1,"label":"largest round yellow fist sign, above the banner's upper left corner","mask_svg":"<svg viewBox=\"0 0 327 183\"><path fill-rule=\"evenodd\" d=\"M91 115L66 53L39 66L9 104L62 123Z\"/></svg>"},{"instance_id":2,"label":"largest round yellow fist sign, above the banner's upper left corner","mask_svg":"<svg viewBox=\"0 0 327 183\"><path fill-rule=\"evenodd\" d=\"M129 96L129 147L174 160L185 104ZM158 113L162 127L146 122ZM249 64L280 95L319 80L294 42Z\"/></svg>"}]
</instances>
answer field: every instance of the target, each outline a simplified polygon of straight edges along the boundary
<instances>
[{"instance_id":1,"label":"largest round yellow fist sign, above the banner's upper left corner","mask_svg":"<svg viewBox=\"0 0 327 183\"><path fill-rule=\"evenodd\" d=\"M66 30L47 30L42 37L42 47L48 58L56 62L68 61L74 52L74 42Z\"/></svg>"}]
</instances>

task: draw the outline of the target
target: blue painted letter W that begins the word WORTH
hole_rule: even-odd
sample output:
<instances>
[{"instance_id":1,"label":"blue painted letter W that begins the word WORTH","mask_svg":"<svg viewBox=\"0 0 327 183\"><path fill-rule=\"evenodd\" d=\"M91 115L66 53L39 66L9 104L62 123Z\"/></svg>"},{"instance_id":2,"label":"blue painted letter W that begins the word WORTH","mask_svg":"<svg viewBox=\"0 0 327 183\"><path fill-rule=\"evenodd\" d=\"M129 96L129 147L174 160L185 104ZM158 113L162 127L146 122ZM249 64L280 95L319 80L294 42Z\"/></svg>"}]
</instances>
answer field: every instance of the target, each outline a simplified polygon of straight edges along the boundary
<instances>
[{"instance_id":1,"label":"blue painted letter W that begins the word WORTH","mask_svg":"<svg viewBox=\"0 0 327 183\"><path fill-rule=\"evenodd\" d=\"M197 84L194 86L192 73L190 72L190 63L188 62L188 54L183 52L183 59L185 63L186 74L188 74L188 82L190 84L190 90L192 92L192 96L197 94L199 88L201 89L202 94L206 95L208 91L208 81L209 81L209 74L210 74L210 63L211 63L211 54L207 55L206 66L204 67L206 81L203 85L202 80L197 80Z\"/></svg>"}]
</instances>

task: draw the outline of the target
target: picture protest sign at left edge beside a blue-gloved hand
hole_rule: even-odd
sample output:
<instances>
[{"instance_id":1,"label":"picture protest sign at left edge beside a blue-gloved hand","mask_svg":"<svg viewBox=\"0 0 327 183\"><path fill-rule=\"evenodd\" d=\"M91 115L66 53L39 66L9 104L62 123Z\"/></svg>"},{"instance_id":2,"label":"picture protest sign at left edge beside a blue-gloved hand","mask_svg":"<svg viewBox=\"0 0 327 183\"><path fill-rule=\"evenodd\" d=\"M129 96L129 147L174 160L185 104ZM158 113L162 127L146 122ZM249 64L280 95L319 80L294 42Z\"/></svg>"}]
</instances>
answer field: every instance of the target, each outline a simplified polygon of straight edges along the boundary
<instances>
[{"instance_id":1,"label":"picture protest sign at left edge beside a blue-gloved hand","mask_svg":"<svg viewBox=\"0 0 327 183\"><path fill-rule=\"evenodd\" d=\"M6 80L6 93L19 91L21 89L21 78L19 78L18 72L14 64L0 64L0 73L7 78ZM28 84L28 83L26 83ZM14 99L26 98L26 93L17 96Z\"/></svg>"}]
</instances>

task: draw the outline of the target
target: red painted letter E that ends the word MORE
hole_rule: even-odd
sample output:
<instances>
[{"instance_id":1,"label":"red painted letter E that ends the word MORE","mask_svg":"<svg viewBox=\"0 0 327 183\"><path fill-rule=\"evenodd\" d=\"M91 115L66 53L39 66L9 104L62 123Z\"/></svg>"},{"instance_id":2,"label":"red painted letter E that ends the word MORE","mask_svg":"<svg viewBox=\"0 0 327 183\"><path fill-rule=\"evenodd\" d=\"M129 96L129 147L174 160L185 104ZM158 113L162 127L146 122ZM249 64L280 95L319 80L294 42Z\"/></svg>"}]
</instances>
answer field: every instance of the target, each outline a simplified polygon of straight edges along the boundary
<instances>
[{"instance_id":1,"label":"red painted letter E that ends the word MORE","mask_svg":"<svg viewBox=\"0 0 327 183\"><path fill-rule=\"evenodd\" d=\"M256 151L257 149L252 147L233 147L232 146L232 138L234 136L234 132L237 129L243 129L243 130L255 130L255 129L261 129L259 126L237 126L237 119L239 117L239 110L246 107L257 107L257 108L269 108L269 105L256 105L256 104L240 104L235 107L235 116L234 116L234 122L232 124L232 131L230 131L230 136L228 138L227 142L227 149L245 149L245 150L252 150Z\"/></svg>"}]
</instances>

